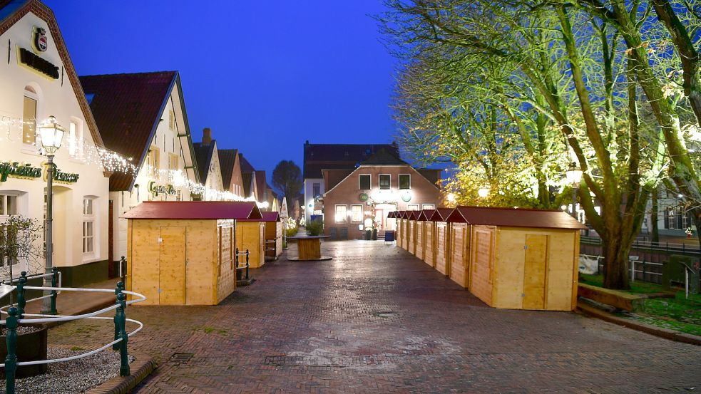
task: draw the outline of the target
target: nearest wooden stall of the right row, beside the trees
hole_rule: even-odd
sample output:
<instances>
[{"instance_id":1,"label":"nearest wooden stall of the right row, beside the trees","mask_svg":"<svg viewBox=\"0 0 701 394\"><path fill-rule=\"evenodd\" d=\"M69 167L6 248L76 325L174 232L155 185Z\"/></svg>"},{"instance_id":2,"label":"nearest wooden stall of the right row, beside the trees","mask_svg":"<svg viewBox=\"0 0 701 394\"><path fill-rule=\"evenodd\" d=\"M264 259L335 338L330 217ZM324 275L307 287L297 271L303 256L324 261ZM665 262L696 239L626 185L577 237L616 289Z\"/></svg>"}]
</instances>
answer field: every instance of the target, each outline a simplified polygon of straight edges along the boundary
<instances>
[{"instance_id":1,"label":"nearest wooden stall of the right row, beside the trees","mask_svg":"<svg viewBox=\"0 0 701 394\"><path fill-rule=\"evenodd\" d=\"M486 304L575 309L579 230L586 227L573 217L539 209L457 207L449 221L466 225L455 235L455 244L464 245L462 253L469 254L469 261L461 264L469 269L470 291Z\"/></svg>"}]
</instances>

